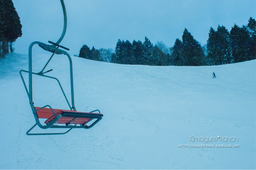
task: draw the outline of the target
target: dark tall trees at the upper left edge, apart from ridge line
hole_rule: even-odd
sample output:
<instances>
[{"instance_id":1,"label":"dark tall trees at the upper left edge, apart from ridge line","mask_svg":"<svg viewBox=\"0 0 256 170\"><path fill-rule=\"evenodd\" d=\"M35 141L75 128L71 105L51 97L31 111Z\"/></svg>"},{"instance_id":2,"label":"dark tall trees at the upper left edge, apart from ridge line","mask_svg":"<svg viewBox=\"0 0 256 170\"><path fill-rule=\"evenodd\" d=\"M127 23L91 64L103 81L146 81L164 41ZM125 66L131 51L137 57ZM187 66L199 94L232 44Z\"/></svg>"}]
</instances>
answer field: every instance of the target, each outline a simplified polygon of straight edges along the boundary
<instances>
[{"instance_id":1,"label":"dark tall trees at the upper left edge, apart from ridge line","mask_svg":"<svg viewBox=\"0 0 256 170\"><path fill-rule=\"evenodd\" d=\"M20 17L12 0L0 0L0 58L9 53L9 48L11 53L14 51L12 43L21 37L21 28Z\"/></svg>"}]
</instances>

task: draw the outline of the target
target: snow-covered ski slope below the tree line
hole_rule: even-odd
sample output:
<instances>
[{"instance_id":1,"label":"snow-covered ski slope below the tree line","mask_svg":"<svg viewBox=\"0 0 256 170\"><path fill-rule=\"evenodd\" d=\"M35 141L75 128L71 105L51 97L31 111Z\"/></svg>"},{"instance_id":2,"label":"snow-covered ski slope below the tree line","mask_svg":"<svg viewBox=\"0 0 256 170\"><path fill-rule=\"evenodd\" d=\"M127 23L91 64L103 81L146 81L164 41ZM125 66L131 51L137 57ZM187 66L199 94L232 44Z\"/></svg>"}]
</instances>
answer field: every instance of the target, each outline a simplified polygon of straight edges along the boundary
<instances>
[{"instance_id":1,"label":"snow-covered ski slope below the tree line","mask_svg":"<svg viewBox=\"0 0 256 170\"><path fill-rule=\"evenodd\" d=\"M33 56L33 70L49 56ZM0 169L256 168L256 60L163 67L72 59L76 109L104 116L89 130L59 136L26 135L35 124L19 75L28 70L28 55L0 61ZM46 71L53 69L47 75L59 78L70 99L68 67L66 56L55 55ZM38 107L68 109L51 79L33 76L33 99ZM239 141L193 142L191 136Z\"/></svg>"}]
</instances>

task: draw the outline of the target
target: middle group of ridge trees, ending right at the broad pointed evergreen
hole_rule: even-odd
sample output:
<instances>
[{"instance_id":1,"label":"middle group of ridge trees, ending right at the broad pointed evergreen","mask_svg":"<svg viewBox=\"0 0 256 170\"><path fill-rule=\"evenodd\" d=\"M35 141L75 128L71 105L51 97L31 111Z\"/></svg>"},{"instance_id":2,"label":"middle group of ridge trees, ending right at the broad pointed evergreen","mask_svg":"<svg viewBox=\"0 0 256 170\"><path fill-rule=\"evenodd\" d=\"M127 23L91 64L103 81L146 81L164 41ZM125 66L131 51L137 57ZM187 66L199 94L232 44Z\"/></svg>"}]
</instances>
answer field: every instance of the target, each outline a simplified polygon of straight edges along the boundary
<instances>
[{"instance_id":1,"label":"middle group of ridge trees, ending right at the broad pointed evergreen","mask_svg":"<svg viewBox=\"0 0 256 170\"><path fill-rule=\"evenodd\" d=\"M182 41L176 39L172 48L167 48L162 41L153 45L145 37L133 41L118 40L116 43L116 63L136 65L204 65L204 51L201 45L185 28Z\"/></svg>"}]
</instances>

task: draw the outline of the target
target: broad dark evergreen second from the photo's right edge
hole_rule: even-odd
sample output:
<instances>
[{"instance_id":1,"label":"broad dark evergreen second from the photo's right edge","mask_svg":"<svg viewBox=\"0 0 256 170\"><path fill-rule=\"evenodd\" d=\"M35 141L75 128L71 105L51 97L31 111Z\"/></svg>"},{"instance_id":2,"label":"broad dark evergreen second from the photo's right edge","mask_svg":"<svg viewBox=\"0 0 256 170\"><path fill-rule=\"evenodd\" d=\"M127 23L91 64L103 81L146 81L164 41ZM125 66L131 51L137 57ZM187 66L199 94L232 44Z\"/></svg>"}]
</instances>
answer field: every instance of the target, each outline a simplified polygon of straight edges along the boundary
<instances>
[{"instance_id":1,"label":"broad dark evergreen second from the photo's right edge","mask_svg":"<svg viewBox=\"0 0 256 170\"><path fill-rule=\"evenodd\" d=\"M240 28L236 24L230 31L230 43L232 48L233 62L243 62L249 59L250 34L245 26Z\"/></svg>"}]
</instances>

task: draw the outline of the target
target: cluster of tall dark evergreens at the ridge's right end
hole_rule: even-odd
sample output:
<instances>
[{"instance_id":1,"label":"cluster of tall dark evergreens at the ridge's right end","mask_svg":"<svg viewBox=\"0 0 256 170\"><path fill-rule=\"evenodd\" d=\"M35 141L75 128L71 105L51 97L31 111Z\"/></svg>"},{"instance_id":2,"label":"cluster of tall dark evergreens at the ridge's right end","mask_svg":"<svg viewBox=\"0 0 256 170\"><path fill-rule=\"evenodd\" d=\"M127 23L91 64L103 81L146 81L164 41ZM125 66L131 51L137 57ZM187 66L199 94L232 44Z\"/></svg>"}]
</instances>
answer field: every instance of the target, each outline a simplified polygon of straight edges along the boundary
<instances>
[{"instance_id":1,"label":"cluster of tall dark evergreens at the ridge's right end","mask_svg":"<svg viewBox=\"0 0 256 170\"><path fill-rule=\"evenodd\" d=\"M252 17L247 26L236 24L229 32L224 26L212 27L207 40L207 65L222 65L256 59L256 21Z\"/></svg>"}]
</instances>

